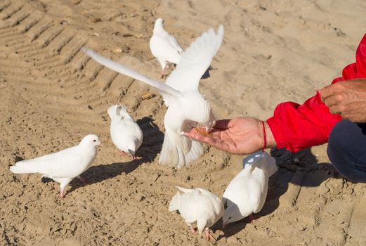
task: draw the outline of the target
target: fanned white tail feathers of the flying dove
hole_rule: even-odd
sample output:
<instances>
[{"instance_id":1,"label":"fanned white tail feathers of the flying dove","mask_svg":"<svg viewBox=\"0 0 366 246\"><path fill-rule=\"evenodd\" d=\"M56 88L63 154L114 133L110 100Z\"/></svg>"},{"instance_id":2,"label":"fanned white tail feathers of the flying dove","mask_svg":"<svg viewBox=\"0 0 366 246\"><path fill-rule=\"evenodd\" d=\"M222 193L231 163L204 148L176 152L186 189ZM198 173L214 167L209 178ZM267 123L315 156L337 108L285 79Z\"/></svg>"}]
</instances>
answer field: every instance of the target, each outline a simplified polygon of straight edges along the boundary
<instances>
[{"instance_id":1,"label":"fanned white tail feathers of the flying dove","mask_svg":"<svg viewBox=\"0 0 366 246\"><path fill-rule=\"evenodd\" d=\"M200 142L166 130L159 163L180 169L197 160L202 154L203 148Z\"/></svg>"}]
</instances>

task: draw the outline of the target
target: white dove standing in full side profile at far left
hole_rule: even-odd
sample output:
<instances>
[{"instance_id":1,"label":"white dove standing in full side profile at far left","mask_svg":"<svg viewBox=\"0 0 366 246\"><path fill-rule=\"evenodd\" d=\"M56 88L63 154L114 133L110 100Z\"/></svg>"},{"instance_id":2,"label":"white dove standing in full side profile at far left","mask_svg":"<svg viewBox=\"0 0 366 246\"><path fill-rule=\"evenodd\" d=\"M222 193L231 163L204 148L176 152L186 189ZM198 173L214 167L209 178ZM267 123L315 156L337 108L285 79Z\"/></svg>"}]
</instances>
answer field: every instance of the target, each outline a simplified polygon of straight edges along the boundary
<instances>
[{"instance_id":1,"label":"white dove standing in full side profile at far left","mask_svg":"<svg viewBox=\"0 0 366 246\"><path fill-rule=\"evenodd\" d=\"M16 162L10 167L14 174L42 174L42 177L60 183L60 198L72 179L89 169L97 155L96 146L102 145L98 136L84 136L79 145L31 160Z\"/></svg>"}]
</instances>

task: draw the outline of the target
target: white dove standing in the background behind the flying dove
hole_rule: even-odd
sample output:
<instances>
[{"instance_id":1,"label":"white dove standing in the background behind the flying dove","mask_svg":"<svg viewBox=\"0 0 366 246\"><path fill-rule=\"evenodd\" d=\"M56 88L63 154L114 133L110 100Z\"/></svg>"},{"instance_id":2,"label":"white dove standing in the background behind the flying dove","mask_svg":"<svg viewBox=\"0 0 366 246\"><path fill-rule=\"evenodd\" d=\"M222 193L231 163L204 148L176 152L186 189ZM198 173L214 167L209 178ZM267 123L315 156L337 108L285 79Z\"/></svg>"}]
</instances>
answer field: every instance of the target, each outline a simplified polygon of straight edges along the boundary
<instances>
[{"instance_id":1,"label":"white dove standing in the background behind the flying dove","mask_svg":"<svg viewBox=\"0 0 366 246\"><path fill-rule=\"evenodd\" d=\"M157 58L162 66L161 77L164 77L167 63L178 64L181 60L181 55L184 53L183 48L178 44L178 41L164 30L164 20L157 18L154 25L154 32L150 39L150 50L153 56Z\"/></svg>"}]
</instances>

